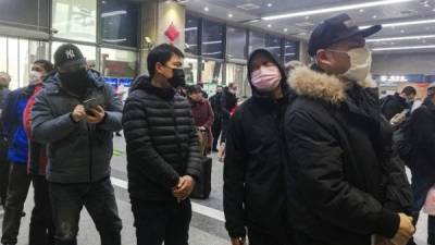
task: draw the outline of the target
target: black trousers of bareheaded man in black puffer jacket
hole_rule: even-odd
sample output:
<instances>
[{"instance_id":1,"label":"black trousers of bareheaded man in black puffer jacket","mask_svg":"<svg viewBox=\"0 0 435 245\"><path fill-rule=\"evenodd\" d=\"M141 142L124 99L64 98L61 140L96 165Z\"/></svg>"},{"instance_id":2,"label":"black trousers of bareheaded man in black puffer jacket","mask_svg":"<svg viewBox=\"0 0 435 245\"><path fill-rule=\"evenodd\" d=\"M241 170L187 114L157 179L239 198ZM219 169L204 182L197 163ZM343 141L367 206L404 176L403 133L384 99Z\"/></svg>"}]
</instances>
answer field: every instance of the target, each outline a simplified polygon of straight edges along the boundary
<instances>
[{"instance_id":1,"label":"black trousers of bareheaded man in black puffer jacket","mask_svg":"<svg viewBox=\"0 0 435 245\"><path fill-rule=\"evenodd\" d=\"M190 200L145 201L132 199L137 245L188 245Z\"/></svg>"}]
</instances>

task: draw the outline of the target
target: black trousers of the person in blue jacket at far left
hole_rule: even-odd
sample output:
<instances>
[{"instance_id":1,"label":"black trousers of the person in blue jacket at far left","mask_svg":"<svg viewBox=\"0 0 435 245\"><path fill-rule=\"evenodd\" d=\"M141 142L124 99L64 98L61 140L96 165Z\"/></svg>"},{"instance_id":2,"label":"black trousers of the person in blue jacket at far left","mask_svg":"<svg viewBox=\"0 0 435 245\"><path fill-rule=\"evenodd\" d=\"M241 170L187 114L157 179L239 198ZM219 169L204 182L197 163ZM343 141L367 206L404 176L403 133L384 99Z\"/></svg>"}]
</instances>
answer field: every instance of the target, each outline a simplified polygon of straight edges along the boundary
<instances>
[{"instance_id":1,"label":"black trousers of the person in blue jacket at far left","mask_svg":"<svg viewBox=\"0 0 435 245\"><path fill-rule=\"evenodd\" d=\"M16 244L24 203L26 201L30 177L27 164L11 163L8 197L4 206L2 244Z\"/></svg>"}]
</instances>

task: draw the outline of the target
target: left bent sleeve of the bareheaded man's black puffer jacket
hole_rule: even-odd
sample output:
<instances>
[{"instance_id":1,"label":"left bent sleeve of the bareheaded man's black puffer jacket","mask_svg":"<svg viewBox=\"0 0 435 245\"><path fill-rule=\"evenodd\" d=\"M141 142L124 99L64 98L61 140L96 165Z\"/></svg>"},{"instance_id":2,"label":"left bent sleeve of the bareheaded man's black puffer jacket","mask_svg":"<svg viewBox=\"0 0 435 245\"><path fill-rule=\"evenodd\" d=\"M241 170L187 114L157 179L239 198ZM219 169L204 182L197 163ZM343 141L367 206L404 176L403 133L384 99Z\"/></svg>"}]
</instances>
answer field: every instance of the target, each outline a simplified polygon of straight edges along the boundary
<instances>
[{"instance_id":1,"label":"left bent sleeve of the bareheaded man's black puffer jacket","mask_svg":"<svg viewBox=\"0 0 435 245\"><path fill-rule=\"evenodd\" d=\"M144 105L127 100L124 107L123 126L127 143L128 164L141 174L166 188L178 184L179 175L152 146Z\"/></svg>"}]
</instances>

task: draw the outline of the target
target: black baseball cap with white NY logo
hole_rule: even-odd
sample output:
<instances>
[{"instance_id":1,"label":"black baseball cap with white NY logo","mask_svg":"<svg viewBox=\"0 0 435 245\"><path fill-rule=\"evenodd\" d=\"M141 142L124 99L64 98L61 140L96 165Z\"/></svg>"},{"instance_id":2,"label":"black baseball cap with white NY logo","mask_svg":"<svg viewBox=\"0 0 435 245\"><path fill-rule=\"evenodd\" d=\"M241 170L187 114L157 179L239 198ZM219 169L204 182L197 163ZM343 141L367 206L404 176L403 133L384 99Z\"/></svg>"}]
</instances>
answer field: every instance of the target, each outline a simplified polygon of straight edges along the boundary
<instances>
[{"instance_id":1,"label":"black baseball cap with white NY logo","mask_svg":"<svg viewBox=\"0 0 435 245\"><path fill-rule=\"evenodd\" d=\"M66 69L74 64L86 64L86 59L77 46L72 44L62 45L54 52L54 66Z\"/></svg>"}]
</instances>

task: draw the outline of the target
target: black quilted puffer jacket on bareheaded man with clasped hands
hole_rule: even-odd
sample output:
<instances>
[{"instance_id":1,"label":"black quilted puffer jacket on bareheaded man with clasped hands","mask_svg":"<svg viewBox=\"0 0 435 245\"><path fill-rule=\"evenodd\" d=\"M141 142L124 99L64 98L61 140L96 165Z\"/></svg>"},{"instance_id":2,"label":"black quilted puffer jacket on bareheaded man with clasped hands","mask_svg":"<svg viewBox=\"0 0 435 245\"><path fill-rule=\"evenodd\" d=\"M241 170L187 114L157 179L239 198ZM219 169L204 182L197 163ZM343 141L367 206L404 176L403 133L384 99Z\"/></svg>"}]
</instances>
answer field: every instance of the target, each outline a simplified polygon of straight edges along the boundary
<instances>
[{"instance_id":1,"label":"black quilted puffer jacket on bareheaded man with clasped hands","mask_svg":"<svg viewBox=\"0 0 435 245\"><path fill-rule=\"evenodd\" d=\"M125 102L128 192L132 198L174 200L179 176L199 176L200 155L189 102L141 76Z\"/></svg>"}]
</instances>

